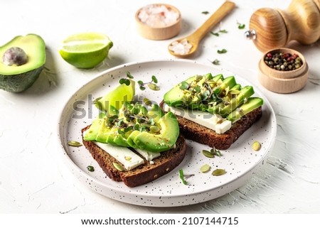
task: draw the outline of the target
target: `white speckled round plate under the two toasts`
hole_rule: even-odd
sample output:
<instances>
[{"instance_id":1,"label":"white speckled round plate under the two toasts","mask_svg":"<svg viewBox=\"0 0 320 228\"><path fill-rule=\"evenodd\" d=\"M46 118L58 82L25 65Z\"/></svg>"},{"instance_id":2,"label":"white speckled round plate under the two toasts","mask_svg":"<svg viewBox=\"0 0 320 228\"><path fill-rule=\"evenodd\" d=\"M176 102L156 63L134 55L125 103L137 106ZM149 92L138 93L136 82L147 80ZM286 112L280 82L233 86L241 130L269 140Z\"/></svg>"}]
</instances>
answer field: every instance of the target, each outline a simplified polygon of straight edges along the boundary
<instances>
[{"instance_id":1,"label":"white speckled round plate under the two toasts","mask_svg":"<svg viewBox=\"0 0 320 228\"><path fill-rule=\"evenodd\" d=\"M60 116L58 131L64 160L75 177L85 183L88 188L114 200L134 205L151 207L192 205L213 200L239 188L255 174L257 168L263 165L267 153L274 144L277 124L270 102L258 89L255 89L255 96L265 100L262 118L245 131L245 134L242 134L230 149L221 151L223 156L206 158L201 151L210 149L208 146L187 140L188 151L182 163L171 173L152 183L128 188L123 183L107 178L84 146L71 147L67 142L69 140L81 141L80 129L90 124L97 114L92 100L107 94L110 88L118 85L119 78L124 77L127 71L131 72L136 80L144 82L149 81L151 75L156 75L159 80L158 85L161 87L159 91L137 89L139 96L148 97L156 102L161 101L164 92L192 75L208 72L213 75L223 73L225 77L233 75L213 65L204 65L191 60L150 61L114 67L100 73L95 79L81 87L65 104ZM241 85L250 85L238 75L235 75L235 79ZM262 143L260 151L252 151L253 141ZM203 164L210 164L212 170L223 168L227 173L220 176L213 176L211 172L201 173L199 168ZM94 166L95 171L88 171L87 165ZM185 174L194 174L188 179L188 185L181 183L178 175L180 168Z\"/></svg>"}]
</instances>

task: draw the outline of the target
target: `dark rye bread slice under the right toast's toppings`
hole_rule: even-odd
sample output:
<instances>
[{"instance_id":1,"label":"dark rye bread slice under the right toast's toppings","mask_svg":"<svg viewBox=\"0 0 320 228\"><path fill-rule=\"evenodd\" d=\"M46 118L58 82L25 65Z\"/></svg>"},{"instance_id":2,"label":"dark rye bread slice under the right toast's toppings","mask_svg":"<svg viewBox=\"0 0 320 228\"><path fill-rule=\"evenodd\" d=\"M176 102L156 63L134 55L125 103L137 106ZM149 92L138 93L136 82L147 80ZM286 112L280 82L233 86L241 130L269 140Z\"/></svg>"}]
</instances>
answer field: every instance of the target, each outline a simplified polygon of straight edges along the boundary
<instances>
[{"instance_id":1,"label":"dark rye bread slice under the right toast's toppings","mask_svg":"<svg viewBox=\"0 0 320 228\"><path fill-rule=\"evenodd\" d=\"M160 103L161 109L164 109L164 101ZM201 144L206 144L218 150L226 150L245 132L255 124L262 116L262 107L259 107L236 121L231 129L224 134L217 134L206 126L197 124L191 120L177 116L180 132L186 139L191 139Z\"/></svg>"}]
</instances>

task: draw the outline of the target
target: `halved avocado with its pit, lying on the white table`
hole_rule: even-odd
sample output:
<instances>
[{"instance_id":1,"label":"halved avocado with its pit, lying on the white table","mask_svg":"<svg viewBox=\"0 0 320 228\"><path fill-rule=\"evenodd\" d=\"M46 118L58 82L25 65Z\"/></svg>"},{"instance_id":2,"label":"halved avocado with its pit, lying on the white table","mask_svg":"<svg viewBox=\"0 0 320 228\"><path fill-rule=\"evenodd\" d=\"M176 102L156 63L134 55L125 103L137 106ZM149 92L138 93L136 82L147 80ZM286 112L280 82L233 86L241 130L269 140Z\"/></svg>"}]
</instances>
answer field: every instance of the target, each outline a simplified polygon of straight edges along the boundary
<instances>
[{"instance_id":1,"label":"halved avocado with its pit, lying on the white table","mask_svg":"<svg viewBox=\"0 0 320 228\"><path fill-rule=\"evenodd\" d=\"M46 44L41 36L16 36L0 47L0 88L23 92L38 79L46 63Z\"/></svg>"}]
</instances>

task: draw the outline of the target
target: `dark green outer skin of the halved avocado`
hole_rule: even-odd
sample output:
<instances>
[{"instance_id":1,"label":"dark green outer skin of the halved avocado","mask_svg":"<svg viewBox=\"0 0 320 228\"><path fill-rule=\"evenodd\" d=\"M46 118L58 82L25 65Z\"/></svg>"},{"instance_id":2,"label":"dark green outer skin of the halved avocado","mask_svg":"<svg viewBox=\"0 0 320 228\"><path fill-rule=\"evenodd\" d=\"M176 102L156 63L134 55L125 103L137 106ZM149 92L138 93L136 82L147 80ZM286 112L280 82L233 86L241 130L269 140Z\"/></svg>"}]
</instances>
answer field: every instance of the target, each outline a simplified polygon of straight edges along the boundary
<instances>
[{"instance_id":1,"label":"dark green outer skin of the halved avocado","mask_svg":"<svg viewBox=\"0 0 320 228\"><path fill-rule=\"evenodd\" d=\"M36 82L43 67L18 75L0 75L0 88L8 92L23 92Z\"/></svg>"}]
</instances>

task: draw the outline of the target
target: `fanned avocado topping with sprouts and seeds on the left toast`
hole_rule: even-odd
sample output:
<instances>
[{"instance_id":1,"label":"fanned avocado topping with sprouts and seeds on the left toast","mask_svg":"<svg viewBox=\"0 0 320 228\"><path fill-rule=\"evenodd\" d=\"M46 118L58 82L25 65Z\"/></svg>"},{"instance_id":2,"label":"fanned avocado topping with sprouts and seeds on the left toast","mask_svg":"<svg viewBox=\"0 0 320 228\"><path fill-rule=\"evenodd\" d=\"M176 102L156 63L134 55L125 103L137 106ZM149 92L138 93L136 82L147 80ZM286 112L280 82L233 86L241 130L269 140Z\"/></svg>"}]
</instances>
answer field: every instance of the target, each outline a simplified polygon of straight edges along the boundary
<instances>
[{"instance_id":1,"label":"fanned avocado topping with sprouts and seeds on the left toast","mask_svg":"<svg viewBox=\"0 0 320 228\"><path fill-rule=\"evenodd\" d=\"M179 128L173 113L164 114L158 104L147 109L138 102L124 102L118 111L93 121L84 139L155 153L174 147Z\"/></svg>"}]
</instances>

